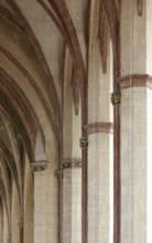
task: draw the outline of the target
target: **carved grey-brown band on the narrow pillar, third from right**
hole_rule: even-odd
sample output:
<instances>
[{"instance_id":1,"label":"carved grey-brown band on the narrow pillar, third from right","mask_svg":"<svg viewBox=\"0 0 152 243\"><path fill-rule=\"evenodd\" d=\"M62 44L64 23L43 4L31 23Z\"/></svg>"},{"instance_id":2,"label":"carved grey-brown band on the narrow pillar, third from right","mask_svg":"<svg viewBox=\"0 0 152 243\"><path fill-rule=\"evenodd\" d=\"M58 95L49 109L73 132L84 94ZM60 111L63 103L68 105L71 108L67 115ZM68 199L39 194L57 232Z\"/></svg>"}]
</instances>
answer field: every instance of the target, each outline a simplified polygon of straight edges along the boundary
<instances>
[{"instance_id":1,"label":"carved grey-brown band on the narrow pillar, third from right","mask_svg":"<svg viewBox=\"0 0 152 243\"><path fill-rule=\"evenodd\" d=\"M62 161L62 169L72 169L72 168L82 168L82 160L80 159L64 159Z\"/></svg>"}]
</instances>

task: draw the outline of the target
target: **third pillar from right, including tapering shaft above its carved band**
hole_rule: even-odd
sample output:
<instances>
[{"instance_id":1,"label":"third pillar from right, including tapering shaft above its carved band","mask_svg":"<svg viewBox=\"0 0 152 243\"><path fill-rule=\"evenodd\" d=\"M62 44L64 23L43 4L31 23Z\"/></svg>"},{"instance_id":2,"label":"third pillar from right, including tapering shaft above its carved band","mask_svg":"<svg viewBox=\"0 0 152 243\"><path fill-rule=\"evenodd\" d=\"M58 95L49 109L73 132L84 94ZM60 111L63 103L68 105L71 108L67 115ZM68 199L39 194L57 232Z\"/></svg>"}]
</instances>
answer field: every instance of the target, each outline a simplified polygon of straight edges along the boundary
<instances>
[{"instance_id":1,"label":"third pillar from right, including tapering shaft above its carved band","mask_svg":"<svg viewBox=\"0 0 152 243\"><path fill-rule=\"evenodd\" d=\"M73 61L66 50L63 92L63 201L62 201L62 243L82 243L82 149L79 138L82 135L82 110L75 114L72 93Z\"/></svg>"}]
</instances>

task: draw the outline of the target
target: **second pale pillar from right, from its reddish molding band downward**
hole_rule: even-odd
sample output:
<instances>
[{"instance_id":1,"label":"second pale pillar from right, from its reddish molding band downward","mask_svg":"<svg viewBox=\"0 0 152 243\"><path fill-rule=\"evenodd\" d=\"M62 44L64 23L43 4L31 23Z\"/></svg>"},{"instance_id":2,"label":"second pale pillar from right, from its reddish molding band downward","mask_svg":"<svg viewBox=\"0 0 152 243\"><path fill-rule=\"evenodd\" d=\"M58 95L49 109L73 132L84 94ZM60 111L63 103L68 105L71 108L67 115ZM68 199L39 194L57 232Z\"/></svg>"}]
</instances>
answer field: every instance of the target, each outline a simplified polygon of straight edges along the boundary
<instances>
[{"instance_id":1,"label":"second pale pillar from right, from its reddish molding band downward","mask_svg":"<svg viewBox=\"0 0 152 243\"><path fill-rule=\"evenodd\" d=\"M112 242L113 224L112 124L89 124L86 129L88 134L88 243L109 243Z\"/></svg>"}]
</instances>

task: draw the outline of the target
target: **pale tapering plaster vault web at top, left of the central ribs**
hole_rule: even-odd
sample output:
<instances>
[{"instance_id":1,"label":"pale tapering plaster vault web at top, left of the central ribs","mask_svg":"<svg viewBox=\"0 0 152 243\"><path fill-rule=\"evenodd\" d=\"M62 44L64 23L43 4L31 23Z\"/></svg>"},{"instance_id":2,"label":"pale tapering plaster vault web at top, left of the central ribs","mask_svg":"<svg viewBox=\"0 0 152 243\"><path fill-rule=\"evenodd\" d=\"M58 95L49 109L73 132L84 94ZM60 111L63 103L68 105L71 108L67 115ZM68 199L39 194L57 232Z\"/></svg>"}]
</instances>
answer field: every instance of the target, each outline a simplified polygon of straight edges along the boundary
<instances>
[{"instance_id":1,"label":"pale tapering plaster vault web at top, left of the central ribs","mask_svg":"<svg viewBox=\"0 0 152 243\"><path fill-rule=\"evenodd\" d=\"M51 17L44 11L39 2L34 0L17 0L17 2L28 18L43 50L61 99L59 62L62 57L63 38Z\"/></svg>"}]
</instances>

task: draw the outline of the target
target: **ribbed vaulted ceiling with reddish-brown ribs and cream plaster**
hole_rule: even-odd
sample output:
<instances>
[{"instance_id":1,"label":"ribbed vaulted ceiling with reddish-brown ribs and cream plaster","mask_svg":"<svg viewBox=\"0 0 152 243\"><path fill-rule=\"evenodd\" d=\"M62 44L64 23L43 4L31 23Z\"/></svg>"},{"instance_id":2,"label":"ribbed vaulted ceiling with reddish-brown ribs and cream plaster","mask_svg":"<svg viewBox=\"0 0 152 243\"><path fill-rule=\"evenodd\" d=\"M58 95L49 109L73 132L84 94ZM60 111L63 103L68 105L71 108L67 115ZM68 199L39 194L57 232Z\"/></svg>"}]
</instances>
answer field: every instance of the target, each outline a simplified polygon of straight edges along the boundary
<instances>
[{"instance_id":1,"label":"ribbed vaulted ceiling with reddish-brown ribs and cream plaster","mask_svg":"<svg viewBox=\"0 0 152 243\"><path fill-rule=\"evenodd\" d=\"M142 0L137 3L141 14ZM10 172L20 194L23 147L31 161L36 159L40 141L46 145L47 156L59 151L67 72L75 112L78 113L80 97L82 124L87 124L88 63L95 28L102 71L107 71L111 40L115 75L119 76L119 8L120 0L0 0L0 194L3 200L9 197Z\"/></svg>"}]
</instances>

